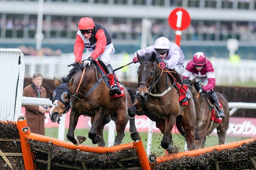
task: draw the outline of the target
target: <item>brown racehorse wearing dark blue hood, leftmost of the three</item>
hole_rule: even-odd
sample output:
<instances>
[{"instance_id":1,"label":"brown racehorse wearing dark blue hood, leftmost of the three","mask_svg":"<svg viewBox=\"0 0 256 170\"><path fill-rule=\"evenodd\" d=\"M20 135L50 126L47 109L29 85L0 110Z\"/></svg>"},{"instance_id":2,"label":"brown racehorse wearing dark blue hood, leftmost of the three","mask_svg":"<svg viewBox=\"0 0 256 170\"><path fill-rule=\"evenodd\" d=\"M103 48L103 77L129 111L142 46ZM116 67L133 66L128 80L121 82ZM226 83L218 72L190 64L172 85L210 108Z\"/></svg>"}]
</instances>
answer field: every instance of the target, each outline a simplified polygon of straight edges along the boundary
<instances>
[{"instance_id":1,"label":"brown racehorse wearing dark blue hood, leftmost of the three","mask_svg":"<svg viewBox=\"0 0 256 170\"><path fill-rule=\"evenodd\" d=\"M86 140L83 136L74 136L79 116L84 115L91 117L92 126L88 137L93 144L105 146L103 129L111 119L116 124L117 132L114 145L120 144L125 136L128 108L134 101L133 91L129 88L126 89L122 85L124 88L121 94L122 97L111 99L110 88L105 81L102 81L107 73L101 74L96 62L86 66L84 74L82 64L73 63L71 65L73 68L69 74L61 78L63 83L60 84L55 79L56 89L50 94L52 109L49 112L49 116L51 121L58 122L60 120L59 117L66 113L70 109L70 105L72 105L67 133L67 139L70 142L79 145ZM102 77L100 77L101 75ZM82 81L79 83L81 79Z\"/></svg>"}]
</instances>

